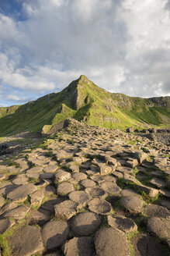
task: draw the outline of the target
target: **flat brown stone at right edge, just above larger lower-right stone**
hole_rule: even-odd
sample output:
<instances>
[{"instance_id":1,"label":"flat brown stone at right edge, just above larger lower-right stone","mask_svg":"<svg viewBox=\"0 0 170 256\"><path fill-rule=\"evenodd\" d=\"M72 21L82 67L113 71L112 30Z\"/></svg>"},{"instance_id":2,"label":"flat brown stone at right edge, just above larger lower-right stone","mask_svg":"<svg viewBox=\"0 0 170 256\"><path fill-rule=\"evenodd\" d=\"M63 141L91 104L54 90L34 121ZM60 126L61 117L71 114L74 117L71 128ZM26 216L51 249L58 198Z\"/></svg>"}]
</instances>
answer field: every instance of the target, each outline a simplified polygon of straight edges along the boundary
<instances>
[{"instance_id":1,"label":"flat brown stone at right edge, just above larger lower-right stone","mask_svg":"<svg viewBox=\"0 0 170 256\"><path fill-rule=\"evenodd\" d=\"M150 217L170 217L170 212L168 211L168 209L157 204L147 204L143 208L142 213Z\"/></svg>"}]
</instances>

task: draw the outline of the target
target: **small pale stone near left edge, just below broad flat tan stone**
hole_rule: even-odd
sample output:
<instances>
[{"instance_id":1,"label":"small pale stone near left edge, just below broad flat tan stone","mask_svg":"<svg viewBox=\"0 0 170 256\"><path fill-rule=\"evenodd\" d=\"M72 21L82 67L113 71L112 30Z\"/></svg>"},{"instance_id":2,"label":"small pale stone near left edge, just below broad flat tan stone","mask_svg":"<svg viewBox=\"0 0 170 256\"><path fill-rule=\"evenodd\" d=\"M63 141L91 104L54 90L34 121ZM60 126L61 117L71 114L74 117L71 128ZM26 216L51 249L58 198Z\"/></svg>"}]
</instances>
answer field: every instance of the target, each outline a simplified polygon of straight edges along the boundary
<instances>
[{"instance_id":1,"label":"small pale stone near left edge, just below broad flat tan stone","mask_svg":"<svg viewBox=\"0 0 170 256\"><path fill-rule=\"evenodd\" d=\"M29 207L26 207L25 205L20 205L17 208L5 212L3 216L5 218L11 217L13 219L24 219L27 212L29 212Z\"/></svg>"}]
</instances>

